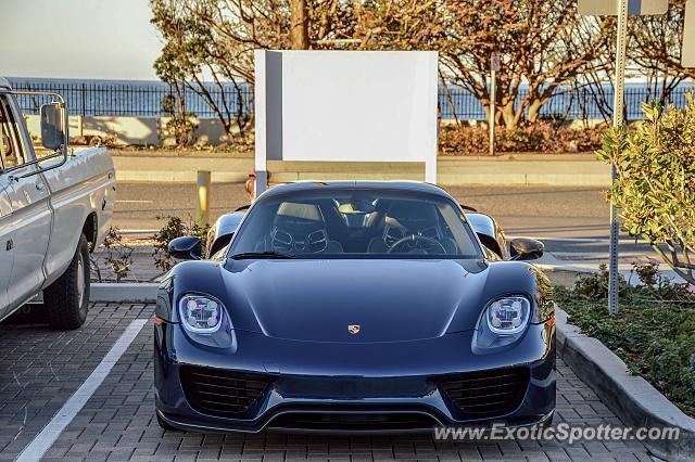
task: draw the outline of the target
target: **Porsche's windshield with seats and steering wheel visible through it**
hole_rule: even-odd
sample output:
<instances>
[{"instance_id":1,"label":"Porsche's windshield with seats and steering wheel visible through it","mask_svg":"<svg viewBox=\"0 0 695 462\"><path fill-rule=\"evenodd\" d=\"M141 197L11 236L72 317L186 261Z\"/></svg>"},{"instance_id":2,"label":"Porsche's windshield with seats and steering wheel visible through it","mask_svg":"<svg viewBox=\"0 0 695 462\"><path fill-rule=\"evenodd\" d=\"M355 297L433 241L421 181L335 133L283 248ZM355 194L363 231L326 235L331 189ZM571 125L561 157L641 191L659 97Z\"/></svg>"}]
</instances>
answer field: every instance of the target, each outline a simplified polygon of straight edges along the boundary
<instances>
[{"instance_id":1,"label":"Porsche's windshield with seats and steering wheel visible through it","mask_svg":"<svg viewBox=\"0 0 695 462\"><path fill-rule=\"evenodd\" d=\"M264 211L271 215L266 217L271 218L271 226L266 228L270 232L257 239L253 252L292 255L476 254L468 235L463 241L470 248L459 248L457 242L462 236L458 241L455 239L450 223L452 220L460 221L448 204L391 197L356 201L351 197L342 201L311 198L280 202L269 208ZM446 214L447 209L452 211Z\"/></svg>"}]
</instances>

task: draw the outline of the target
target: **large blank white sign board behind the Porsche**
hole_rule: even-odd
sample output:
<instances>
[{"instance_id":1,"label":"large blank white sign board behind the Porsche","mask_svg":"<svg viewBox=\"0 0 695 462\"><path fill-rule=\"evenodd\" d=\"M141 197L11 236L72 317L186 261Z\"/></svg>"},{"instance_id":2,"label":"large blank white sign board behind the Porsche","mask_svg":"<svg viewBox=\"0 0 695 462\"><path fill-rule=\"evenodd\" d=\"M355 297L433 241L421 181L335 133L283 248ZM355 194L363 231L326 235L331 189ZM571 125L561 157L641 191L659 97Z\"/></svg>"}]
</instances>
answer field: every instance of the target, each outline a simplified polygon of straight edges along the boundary
<instances>
[{"instance_id":1,"label":"large blank white sign board behind the Porsche","mask_svg":"<svg viewBox=\"0 0 695 462\"><path fill-rule=\"evenodd\" d=\"M264 158L424 162L435 181L437 64L424 51L256 52L256 169Z\"/></svg>"}]
</instances>

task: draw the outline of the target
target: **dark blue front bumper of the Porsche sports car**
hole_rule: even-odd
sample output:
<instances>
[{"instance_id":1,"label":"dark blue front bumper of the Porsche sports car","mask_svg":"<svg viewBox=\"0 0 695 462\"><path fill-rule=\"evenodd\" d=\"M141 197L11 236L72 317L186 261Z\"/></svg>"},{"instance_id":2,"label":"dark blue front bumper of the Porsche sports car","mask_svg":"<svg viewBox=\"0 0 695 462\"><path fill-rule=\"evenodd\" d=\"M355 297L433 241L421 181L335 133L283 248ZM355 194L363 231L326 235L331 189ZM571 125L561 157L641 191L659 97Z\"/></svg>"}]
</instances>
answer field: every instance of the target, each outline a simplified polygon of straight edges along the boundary
<instances>
[{"instance_id":1,"label":"dark blue front bumper of the Porsche sports car","mask_svg":"<svg viewBox=\"0 0 695 462\"><path fill-rule=\"evenodd\" d=\"M471 338L472 332L462 332L417 342L316 344L236 332L231 348L214 348L163 322L155 326L156 409L174 427L225 433L419 433L441 425L530 425L552 415L553 325L531 325L519 342L484 355L471 352ZM191 399L181 380L186 368L242 372L267 387L243 412L214 412ZM520 370L528 374L521 395L498 414L464 412L442 385L462 373ZM210 383L211 389L217 384Z\"/></svg>"}]
</instances>

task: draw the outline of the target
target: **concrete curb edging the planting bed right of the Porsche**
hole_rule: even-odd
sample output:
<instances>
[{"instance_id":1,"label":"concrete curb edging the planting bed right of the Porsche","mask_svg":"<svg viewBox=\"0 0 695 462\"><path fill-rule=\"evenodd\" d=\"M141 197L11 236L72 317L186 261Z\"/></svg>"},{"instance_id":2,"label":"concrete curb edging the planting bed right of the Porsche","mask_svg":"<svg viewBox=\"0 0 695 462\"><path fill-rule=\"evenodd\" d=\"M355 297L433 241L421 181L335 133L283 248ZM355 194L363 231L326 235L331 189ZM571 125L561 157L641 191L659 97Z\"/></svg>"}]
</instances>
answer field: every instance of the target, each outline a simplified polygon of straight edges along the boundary
<instances>
[{"instance_id":1,"label":"concrete curb edging the planting bed right of the Porsche","mask_svg":"<svg viewBox=\"0 0 695 462\"><path fill-rule=\"evenodd\" d=\"M631 375L626 363L598 339L568 324L567 312L557 309L557 352L596 395L634 427L679 427L677 440L642 441L656 457L675 462L695 458L695 419L685 415L654 386Z\"/></svg>"}]
</instances>

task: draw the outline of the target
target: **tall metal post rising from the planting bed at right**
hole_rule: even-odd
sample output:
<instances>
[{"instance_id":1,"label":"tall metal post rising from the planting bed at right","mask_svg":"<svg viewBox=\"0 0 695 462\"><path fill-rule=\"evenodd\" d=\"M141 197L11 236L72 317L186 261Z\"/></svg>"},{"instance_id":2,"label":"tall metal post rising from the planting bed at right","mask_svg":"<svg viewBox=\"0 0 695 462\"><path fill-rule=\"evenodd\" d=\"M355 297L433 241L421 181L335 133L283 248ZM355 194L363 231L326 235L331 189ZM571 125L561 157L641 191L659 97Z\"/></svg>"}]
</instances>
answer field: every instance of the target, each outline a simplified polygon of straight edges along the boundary
<instances>
[{"instance_id":1,"label":"tall metal post rising from the planting bed at right","mask_svg":"<svg viewBox=\"0 0 695 462\"><path fill-rule=\"evenodd\" d=\"M612 126L621 127L623 124L623 84L626 80L626 51L628 41L628 0L618 1L618 41L616 50L616 85L612 104ZM618 178L615 164L611 166L612 181ZM610 268L608 275L608 312L612 316L618 312L618 210L610 206Z\"/></svg>"}]
</instances>

